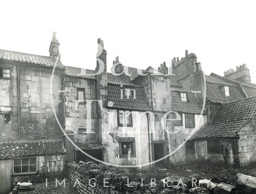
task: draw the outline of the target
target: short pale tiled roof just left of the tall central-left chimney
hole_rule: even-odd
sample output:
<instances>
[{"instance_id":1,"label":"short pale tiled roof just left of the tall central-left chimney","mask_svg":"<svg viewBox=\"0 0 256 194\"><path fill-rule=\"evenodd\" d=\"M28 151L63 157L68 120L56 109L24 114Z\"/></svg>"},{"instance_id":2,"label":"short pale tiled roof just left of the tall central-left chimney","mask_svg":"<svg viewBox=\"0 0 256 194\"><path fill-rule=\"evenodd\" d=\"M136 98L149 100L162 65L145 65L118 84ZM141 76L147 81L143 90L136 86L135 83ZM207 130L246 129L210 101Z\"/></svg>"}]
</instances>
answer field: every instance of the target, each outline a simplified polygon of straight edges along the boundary
<instances>
[{"instance_id":1,"label":"short pale tiled roof just left of the tall central-left chimney","mask_svg":"<svg viewBox=\"0 0 256 194\"><path fill-rule=\"evenodd\" d=\"M95 79L95 76L93 75L95 74L95 71L90 69L65 66L65 73L68 76L72 76L72 77Z\"/></svg>"}]
</instances>

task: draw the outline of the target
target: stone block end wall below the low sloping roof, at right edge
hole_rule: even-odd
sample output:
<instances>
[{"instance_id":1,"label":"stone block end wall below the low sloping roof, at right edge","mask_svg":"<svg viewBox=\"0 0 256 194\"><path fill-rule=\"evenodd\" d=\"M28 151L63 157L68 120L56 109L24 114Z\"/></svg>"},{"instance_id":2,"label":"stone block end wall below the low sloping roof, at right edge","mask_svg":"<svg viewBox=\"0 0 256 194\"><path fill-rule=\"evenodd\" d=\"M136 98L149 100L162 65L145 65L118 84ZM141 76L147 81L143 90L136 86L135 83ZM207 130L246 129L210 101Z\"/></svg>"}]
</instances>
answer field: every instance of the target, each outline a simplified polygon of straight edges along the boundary
<instances>
[{"instance_id":1,"label":"stone block end wall below the low sloping roof, at right edge","mask_svg":"<svg viewBox=\"0 0 256 194\"><path fill-rule=\"evenodd\" d=\"M252 118L240 131L238 153L241 167L252 165L256 161L256 117Z\"/></svg>"}]
</instances>

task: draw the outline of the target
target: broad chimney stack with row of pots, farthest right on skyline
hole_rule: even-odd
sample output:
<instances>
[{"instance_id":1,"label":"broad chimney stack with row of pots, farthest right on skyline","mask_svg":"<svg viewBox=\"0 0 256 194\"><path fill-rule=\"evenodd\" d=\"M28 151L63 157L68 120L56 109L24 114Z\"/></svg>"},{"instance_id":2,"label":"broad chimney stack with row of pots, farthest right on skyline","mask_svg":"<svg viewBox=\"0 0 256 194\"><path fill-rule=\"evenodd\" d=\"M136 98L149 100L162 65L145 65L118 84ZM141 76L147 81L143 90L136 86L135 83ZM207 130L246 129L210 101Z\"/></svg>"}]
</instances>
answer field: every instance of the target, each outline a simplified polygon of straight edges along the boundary
<instances>
[{"instance_id":1,"label":"broad chimney stack with row of pots, farthest right on skyline","mask_svg":"<svg viewBox=\"0 0 256 194\"><path fill-rule=\"evenodd\" d=\"M250 70L247 68L247 64L236 66L236 71L234 69L225 71L224 77L245 83L251 82Z\"/></svg>"}]
</instances>

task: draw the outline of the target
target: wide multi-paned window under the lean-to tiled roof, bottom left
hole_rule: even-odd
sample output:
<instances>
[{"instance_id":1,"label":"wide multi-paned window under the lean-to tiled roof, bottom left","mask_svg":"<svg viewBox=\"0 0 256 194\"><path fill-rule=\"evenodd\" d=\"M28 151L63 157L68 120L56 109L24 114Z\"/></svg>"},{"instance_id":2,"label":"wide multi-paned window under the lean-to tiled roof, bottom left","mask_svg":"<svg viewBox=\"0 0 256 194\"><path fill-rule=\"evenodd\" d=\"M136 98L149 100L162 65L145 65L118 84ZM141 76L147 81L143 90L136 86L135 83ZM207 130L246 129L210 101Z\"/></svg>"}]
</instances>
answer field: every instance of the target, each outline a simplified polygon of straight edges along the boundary
<instances>
[{"instance_id":1,"label":"wide multi-paned window under the lean-to tiled roof, bottom left","mask_svg":"<svg viewBox=\"0 0 256 194\"><path fill-rule=\"evenodd\" d=\"M14 174L30 174L37 172L36 158L13 159Z\"/></svg>"}]
</instances>

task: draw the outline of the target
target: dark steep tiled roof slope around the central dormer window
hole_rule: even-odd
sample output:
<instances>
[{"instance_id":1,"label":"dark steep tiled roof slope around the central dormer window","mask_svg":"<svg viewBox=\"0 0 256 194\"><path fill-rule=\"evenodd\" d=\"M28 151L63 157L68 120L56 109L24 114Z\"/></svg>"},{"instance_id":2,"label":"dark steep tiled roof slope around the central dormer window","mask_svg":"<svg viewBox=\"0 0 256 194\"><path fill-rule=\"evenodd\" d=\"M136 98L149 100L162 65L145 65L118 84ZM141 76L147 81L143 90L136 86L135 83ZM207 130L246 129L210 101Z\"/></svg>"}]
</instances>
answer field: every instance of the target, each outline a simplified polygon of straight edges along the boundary
<instances>
[{"instance_id":1,"label":"dark steep tiled roof slope around the central dormer window","mask_svg":"<svg viewBox=\"0 0 256 194\"><path fill-rule=\"evenodd\" d=\"M136 99L121 99L121 88L118 85L108 84L108 107L109 108L116 108L116 109L126 109L126 110L141 110L141 111L149 111L150 106L148 100L146 99L146 94L144 88L136 87L130 88L136 90ZM113 106L109 106L113 102Z\"/></svg>"}]
</instances>

